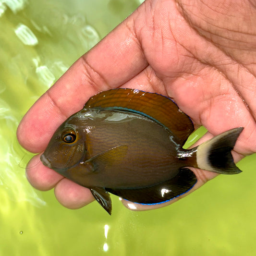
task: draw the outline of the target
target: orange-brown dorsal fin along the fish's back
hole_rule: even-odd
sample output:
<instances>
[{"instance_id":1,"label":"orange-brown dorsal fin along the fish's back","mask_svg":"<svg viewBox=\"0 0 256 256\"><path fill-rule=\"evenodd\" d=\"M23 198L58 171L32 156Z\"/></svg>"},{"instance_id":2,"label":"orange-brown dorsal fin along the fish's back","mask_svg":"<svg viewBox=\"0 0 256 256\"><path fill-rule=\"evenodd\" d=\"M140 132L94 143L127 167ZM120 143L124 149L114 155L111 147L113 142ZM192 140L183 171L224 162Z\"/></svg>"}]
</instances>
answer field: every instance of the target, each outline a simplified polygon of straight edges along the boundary
<instances>
[{"instance_id":1,"label":"orange-brown dorsal fin along the fish's back","mask_svg":"<svg viewBox=\"0 0 256 256\"><path fill-rule=\"evenodd\" d=\"M137 113L169 129L183 145L194 131L190 118L167 97L136 89L112 89L91 97L85 109L121 110Z\"/></svg>"}]
</instances>

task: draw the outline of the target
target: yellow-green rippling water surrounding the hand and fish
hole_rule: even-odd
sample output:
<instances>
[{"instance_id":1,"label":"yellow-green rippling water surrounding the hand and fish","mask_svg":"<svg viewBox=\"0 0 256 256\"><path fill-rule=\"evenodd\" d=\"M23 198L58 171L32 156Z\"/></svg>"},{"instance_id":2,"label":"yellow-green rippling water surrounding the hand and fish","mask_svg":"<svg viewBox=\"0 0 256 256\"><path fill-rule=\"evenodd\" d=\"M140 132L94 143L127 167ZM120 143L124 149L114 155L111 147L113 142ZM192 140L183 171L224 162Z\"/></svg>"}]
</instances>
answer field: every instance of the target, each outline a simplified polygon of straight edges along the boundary
<instances>
[{"instance_id":1,"label":"yellow-green rippling water surrounding the hand and fish","mask_svg":"<svg viewBox=\"0 0 256 256\"><path fill-rule=\"evenodd\" d=\"M3 3L5 2L5 3ZM16 141L24 113L80 55L139 4L136 0L0 0L0 255L256 255L256 157L177 203L133 212L112 196L62 207L25 178L31 154Z\"/></svg>"}]
</instances>

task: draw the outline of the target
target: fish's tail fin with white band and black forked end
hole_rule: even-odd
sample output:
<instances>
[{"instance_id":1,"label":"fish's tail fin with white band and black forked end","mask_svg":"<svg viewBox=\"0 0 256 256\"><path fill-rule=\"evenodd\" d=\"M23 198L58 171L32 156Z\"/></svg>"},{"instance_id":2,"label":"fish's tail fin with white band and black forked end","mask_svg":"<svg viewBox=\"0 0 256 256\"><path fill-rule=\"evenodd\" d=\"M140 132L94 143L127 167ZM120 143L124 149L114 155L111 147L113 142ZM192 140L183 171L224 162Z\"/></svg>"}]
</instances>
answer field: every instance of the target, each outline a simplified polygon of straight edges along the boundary
<instances>
[{"instance_id":1,"label":"fish's tail fin with white band and black forked end","mask_svg":"<svg viewBox=\"0 0 256 256\"><path fill-rule=\"evenodd\" d=\"M231 151L243 127L219 134L197 147L196 161L200 169L222 174L236 174L241 170L235 165Z\"/></svg>"}]
</instances>

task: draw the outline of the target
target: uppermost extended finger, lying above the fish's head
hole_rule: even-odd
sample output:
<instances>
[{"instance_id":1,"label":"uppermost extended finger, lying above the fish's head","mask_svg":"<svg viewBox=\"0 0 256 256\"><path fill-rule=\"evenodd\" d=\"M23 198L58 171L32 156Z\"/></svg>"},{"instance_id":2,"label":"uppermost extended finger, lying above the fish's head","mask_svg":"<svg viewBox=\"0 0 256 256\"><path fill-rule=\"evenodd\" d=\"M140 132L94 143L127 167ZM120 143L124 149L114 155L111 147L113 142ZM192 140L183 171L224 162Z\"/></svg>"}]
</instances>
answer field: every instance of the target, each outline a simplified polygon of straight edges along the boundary
<instances>
[{"instance_id":1,"label":"uppermost extended finger, lying above the fish's head","mask_svg":"<svg viewBox=\"0 0 256 256\"><path fill-rule=\"evenodd\" d=\"M129 17L37 100L17 130L24 148L34 153L43 151L57 127L82 109L89 97L119 87L147 66L132 27L133 19Z\"/></svg>"}]
</instances>

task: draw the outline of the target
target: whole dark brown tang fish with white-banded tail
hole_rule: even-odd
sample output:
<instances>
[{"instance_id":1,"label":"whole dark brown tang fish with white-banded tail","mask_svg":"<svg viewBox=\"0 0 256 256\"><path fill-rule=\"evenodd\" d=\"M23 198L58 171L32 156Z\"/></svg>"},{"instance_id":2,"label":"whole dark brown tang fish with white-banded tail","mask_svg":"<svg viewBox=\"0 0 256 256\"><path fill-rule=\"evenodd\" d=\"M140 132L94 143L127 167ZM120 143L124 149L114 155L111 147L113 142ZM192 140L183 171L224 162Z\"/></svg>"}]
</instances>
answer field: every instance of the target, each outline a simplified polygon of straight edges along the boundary
<instances>
[{"instance_id":1,"label":"whole dark brown tang fish with white-banded tail","mask_svg":"<svg viewBox=\"0 0 256 256\"><path fill-rule=\"evenodd\" d=\"M183 145L194 126L170 98L113 89L91 97L63 122L40 159L89 188L111 214L109 192L134 203L159 204L195 185L195 173L188 167L241 172L231 150L242 130L229 130L186 150Z\"/></svg>"}]
</instances>

